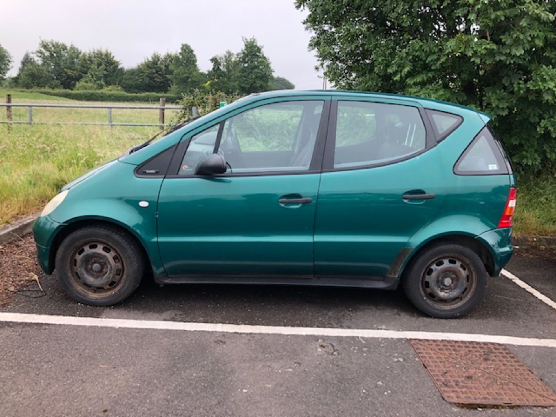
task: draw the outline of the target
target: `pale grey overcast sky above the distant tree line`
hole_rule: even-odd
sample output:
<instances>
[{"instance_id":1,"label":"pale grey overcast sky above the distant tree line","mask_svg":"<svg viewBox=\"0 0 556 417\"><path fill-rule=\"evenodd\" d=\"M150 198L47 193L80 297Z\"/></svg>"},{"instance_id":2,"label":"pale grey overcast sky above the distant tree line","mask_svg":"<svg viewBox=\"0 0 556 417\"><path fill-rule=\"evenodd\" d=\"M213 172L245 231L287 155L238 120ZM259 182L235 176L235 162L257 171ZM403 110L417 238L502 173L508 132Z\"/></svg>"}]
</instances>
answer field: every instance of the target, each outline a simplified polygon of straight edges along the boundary
<instances>
[{"instance_id":1,"label":"pale grey overcast sky above the distant tree line","mask_svg":"<svg viewBox=\"0 0 556 417\"><path fill-rule=\"evenodd\" d=\"M41 38L110 49L126 68L188 43L206 71L212 56L239 52L241 37L255 36L275 76L298 89L321 88L304 17L293 0L3 0L0 44L13 57L9 76Z\"/></svg>"}]
</instances>

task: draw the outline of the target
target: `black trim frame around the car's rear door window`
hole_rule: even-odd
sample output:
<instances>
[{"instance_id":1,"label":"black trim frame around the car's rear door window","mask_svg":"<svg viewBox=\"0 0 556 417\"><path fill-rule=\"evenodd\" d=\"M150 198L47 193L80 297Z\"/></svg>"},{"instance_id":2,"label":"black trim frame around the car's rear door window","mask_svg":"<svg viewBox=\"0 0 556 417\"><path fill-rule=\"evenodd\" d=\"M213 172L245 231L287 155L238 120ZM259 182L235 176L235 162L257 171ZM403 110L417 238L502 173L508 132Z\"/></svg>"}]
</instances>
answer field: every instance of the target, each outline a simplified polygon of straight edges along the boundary
<instances>
[{"instance_id":1,"label":"black trim frame around the car's rear door window","mask_svg":"<svg viewBox=\"0 0 556 417\"><path fill-rule=\"evenodd\" d=\"M342 97L343 98L343 97ZM328 132L326 136L326 147L324 151L324 161L322 163L322 172L338 172L338 171L354 171L354 170L366 170L368 168L376 168L381 166L393 165L394 163L403 162L410 160L416 156L421 155L429 151L431 148L436 146L436 137L433 133L433 126L429 121L429 118L426 116L425 109L418 105L408 104L406 102L399 102L395 103L392 101L381 101L378 99L368 99L368 100L342 100L342 98L334 98L332 99L331 110L330 110L330 121L328 125ZM370 163L366 165L358 165L358 166L349 166L349 167L334 167L334 153L336 151L336 125L337 125L337 111L338 111L338 102L340 101L349 101L349 102L363 102L363 103L382 103L386 105L395 105L395 106L408 106L416 108L419 111L419 115L421 116L421 121L423 121L423 125L425 126L425 147L417 152L410 153L409 155L402 156L390 161L384 162L377 162L377 163Z\"/></svg>"}]
</instances>

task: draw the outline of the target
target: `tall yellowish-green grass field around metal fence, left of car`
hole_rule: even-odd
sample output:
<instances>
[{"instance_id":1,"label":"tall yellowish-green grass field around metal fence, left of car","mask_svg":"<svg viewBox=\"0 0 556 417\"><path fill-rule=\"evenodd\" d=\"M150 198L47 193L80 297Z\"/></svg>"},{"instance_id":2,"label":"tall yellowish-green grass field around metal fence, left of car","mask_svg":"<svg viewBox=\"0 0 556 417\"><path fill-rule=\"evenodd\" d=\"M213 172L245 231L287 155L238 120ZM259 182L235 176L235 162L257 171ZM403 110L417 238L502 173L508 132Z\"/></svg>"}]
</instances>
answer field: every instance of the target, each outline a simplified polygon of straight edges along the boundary
<instances>
[{"instance_id":1,"label":"tall yellowish-green grass field around metal fence, left of car","mask_svg":"<svg viewBox=\"0 0 556 417\"><path fill-rule=\"evenodd\" d=\"M6 92L0 89L0 96ZM52 103L53 100L57 97L12 92L14 103ZM172 121L177 113L167 110L166 120ZM12 107L12 115L14 121L26 121L27 108ZM107 118L106 109L33 109L33 121L106 123ZM6 120L4 107L0 107L0 120ZM158 110L115 109L112 120L158 123ZM158 130L158 127L0 125L0 225L41 209L65 183L115 158Z\"/></svg>"}]
</instances>

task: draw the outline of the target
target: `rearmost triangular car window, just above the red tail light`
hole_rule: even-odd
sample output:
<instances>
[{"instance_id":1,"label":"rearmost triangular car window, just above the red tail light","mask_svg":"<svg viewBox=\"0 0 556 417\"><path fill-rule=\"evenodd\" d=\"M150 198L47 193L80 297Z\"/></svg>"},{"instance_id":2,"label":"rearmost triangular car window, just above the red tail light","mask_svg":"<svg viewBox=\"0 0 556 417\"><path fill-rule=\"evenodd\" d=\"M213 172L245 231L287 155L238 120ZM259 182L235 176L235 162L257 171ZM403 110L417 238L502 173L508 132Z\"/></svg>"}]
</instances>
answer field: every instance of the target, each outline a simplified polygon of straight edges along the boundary
<instances>
[{"instance_id":1,"label":"rearmost triangular car window, just above the red tail light","mask_svg":"<svg viewBox=\"0 0 556 417\"><path fill-rule=\"evenodd\" d=\"M502 145L485 127L461 154L454 172L458 175L500 175L509 173L508 167Z\"/></svg>"}]
</instances>

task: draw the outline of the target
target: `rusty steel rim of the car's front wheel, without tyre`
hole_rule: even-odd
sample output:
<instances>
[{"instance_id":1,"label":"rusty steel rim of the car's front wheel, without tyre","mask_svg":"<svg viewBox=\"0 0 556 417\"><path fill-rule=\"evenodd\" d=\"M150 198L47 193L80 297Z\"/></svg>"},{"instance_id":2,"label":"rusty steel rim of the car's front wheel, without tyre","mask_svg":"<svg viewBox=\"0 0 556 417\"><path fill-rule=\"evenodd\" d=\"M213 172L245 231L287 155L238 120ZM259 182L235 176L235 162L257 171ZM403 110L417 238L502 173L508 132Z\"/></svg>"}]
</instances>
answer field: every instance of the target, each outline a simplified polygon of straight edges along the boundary
<instances>
[{"instance_id":1,"label":"rusty steel rim of the car's front wheel, without tyre","mask_svg":"<svg viewBox=\"0 0 556 417\"><path fill-rule=\"evenodd\" d=\"M76 284L89 294L106 296L123 282L125 267L119 252L100 240L80 244L71 257L71 272Z\"/></svg>"}]
</instances>

